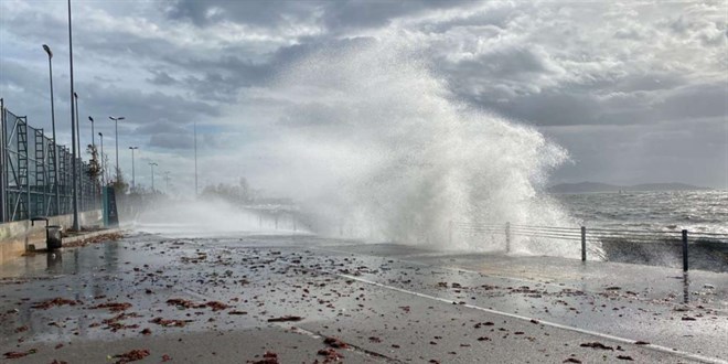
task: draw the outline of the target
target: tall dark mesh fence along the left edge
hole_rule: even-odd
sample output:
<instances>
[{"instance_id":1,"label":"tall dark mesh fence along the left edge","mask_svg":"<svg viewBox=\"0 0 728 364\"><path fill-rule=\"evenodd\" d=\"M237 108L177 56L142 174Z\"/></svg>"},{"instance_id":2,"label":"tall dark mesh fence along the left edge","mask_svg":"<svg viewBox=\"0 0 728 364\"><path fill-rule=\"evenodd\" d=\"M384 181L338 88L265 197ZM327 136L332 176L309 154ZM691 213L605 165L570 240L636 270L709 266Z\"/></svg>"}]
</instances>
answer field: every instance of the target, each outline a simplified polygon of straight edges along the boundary
<instances>
[{"instance_id":1,"label":"tall dark mesh fence along the left edge","mask_svg":"<svg viewBox=\"0 0 728 364\"><path fill-rule=\"evenodd\" d=\"M0 101L0 222L73 213L73 156ZM57 162L56 162L57 157ZM100 208L99 185L77 159L78 210Z\"/></svg>"}]
</instances>

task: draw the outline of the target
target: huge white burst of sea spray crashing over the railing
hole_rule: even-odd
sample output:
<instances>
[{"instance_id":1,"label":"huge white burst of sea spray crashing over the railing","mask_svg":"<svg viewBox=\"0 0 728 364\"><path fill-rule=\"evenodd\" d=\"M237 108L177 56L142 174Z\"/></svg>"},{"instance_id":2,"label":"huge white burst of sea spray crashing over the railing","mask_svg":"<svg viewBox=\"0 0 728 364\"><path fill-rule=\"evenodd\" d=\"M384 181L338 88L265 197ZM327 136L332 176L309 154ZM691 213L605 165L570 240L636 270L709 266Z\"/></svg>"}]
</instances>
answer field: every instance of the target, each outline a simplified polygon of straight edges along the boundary
<instances>
[{"instance_id":1,"label":"huge white burst of sea spray crashing over the railing","mask_svg":"<svg viewBox=\"0 0 728 364\"><path fill-rule=\"evenodd\" d=\"M460 103L409 46L360 41L310 54L275 83L288 108L278 159L312 227L333 236L502 249L450 234L449 222L576 226L542 194L566 150L542 133ZM453 236L454 235L454 236ZM451 237L453 236L453 237ZM516 239L516 251L578 256ZM566 244L566 243L565 243Z\"/></svg>"}]
</instances>

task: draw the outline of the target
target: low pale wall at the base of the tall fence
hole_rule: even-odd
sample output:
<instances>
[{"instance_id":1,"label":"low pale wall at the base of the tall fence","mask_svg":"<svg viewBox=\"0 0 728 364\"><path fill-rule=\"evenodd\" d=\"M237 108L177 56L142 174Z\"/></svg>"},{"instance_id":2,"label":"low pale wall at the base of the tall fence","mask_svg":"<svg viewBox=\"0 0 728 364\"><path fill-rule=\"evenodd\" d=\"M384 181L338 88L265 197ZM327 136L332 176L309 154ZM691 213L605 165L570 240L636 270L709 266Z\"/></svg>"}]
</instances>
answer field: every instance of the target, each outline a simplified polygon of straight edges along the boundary
<instances>
[{"instance_id":1,"label":"low pale wall at the base of the tall fence","mask_svg":"<svg viewBox=\"0 0 728 364\"><path fill-rule=\"evenodd\" d=\"M78 214L82 226L101 225L101 211L92 210ZM73 225L73 214L51 216L49 225L61 225L68 229ZM17 258L26 249L45 248L45 222L35 222L31 226L29 220L0 224L0 264Z\"/></svg>"}]
</instances>

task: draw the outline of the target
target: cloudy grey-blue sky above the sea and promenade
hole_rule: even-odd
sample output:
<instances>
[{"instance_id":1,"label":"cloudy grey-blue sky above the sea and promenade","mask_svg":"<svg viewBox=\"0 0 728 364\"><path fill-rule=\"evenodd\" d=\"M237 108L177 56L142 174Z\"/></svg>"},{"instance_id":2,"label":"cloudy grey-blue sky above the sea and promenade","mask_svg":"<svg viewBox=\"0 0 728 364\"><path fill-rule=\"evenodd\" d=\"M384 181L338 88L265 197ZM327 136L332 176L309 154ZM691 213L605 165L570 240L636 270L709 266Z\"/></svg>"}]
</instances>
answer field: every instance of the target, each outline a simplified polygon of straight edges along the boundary
<instances>
[{"instance_id":1,"label":"cloudy grey-blue sky above the sea and promenade","mask_svg":"<svg viewBox=\"0 0 728 364\"><path fill-rule=\"evenodd\" d=\"M128 147L139 147L140 185L151 183L153 161L158 176L170 172L171 191L191 191L196 122L201 189L245 176L280 192L277 136L346 122L336 117L345 113L321 111L310 89L289 92L291 74L312 54L325 74L321 54L376 44L387 54L407 50L402 61L383 58L395 63L390 74L397 62L417 64L426 76L413 77L441 85L452 105L561 146L568 159L548 184L728 189L725 1L92 0L72 1L72 12L82 142L90 142L93 116L113 161L108 117L124 116L119 162L130 180ZM67 21L65 1L0 1L0 97L31 126L51 129L47 44L63 143L71 140ZM332 58L335 72L347 69L345 60Z\"/></svg>"}]
</instances>

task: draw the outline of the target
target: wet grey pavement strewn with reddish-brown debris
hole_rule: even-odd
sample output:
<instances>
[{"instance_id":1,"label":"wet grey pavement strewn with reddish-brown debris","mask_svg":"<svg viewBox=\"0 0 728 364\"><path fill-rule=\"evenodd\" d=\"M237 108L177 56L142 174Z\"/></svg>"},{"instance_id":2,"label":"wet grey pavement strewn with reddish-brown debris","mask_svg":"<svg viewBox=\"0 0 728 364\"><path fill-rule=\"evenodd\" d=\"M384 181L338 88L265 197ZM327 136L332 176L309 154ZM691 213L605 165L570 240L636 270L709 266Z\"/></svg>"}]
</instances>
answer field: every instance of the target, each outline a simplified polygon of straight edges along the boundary
<instances>
[{"instance_id":1,"label":"wet grey pavement strewn with reddish-brown debris","mask_svg":"<svg viewBox=\"0 0 728 364\"><path fill-rule=\"evenodd\" d=\"M718 272L135 233L0 277L9 363L728 363Z\"/></svg>"}]
</instances>

